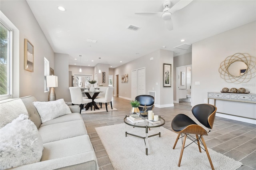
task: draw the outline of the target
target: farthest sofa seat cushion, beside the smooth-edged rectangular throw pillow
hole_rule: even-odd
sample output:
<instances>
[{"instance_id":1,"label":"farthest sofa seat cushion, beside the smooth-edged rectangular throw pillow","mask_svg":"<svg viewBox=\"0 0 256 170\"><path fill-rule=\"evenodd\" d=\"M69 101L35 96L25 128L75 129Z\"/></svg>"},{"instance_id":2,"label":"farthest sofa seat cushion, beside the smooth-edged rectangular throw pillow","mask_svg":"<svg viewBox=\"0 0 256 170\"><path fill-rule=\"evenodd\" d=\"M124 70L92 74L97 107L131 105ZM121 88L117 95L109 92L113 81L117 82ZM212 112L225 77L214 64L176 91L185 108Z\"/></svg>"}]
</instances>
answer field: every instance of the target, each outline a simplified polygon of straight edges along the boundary
<instances>
[{"instance_id":1,"label":"farthest sofa seat cushion, beside the smooth-edged rectangular throw pillow","mask_svg":"<svg viewBox=\"0 0 256 170\"><path fill-rule=\"evenodd\" d=\"M56 117L55 119L52 119L45 123L42 123L42 125L40 127L43 127L46 125L52 125L55 123L62 123L62 122L68 122L68 121L79 121L79 120L83 120L80 113L71 113L71 114L66 114L66 115L60 116L60 117Z\"/></svg>"}]
</instances>

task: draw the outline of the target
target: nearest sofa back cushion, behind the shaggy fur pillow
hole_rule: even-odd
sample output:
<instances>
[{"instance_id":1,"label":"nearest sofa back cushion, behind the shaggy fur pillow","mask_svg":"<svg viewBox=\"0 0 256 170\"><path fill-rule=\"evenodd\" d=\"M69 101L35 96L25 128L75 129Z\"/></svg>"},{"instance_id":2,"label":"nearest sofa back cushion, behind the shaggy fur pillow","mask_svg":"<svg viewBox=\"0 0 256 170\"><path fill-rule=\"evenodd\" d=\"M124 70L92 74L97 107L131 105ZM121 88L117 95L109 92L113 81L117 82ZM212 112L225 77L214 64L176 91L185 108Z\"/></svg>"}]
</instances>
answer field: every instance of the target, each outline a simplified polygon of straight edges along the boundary
<instances>
[{"instance_id":1,"label":"nearest sofa back cushion, behind the shaggy fur pillow","mask_svg":"<svg viewBox=\"0 0 256 170\"><path fill-rule=\"evenodd\" d=\"M0 128L11 123L20 114L28 115L28 111L21 99L1 101L0 105Z\"/></svg>"}]
</instances>

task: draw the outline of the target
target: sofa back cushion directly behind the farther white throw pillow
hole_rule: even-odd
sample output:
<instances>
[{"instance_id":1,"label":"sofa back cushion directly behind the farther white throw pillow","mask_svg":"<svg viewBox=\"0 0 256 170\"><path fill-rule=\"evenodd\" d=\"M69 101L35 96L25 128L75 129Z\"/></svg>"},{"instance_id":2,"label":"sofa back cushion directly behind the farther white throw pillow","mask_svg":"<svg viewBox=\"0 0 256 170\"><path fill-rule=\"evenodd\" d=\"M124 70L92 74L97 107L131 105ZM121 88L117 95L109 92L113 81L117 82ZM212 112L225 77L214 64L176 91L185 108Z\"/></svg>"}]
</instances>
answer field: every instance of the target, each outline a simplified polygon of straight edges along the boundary
<instances>
[{"instance_id":1,"label":"sofa back cushion directly behind the farther white throw pillow","mask_svg":"<svg viewBox=\"0 0 256 170\"><path fill-rule=\"evenodd\" d=\"M22 97L20 99L23 101L23 103L28 111L29 119L32 122L34 122L34 124L36 125L37 128L39 128L40 125L42 124L41 118L40 118L38 111L36 110L36 107L33 105L33 102L37 101L37 99L34 96Z\"/></svg>"}]
</instances>

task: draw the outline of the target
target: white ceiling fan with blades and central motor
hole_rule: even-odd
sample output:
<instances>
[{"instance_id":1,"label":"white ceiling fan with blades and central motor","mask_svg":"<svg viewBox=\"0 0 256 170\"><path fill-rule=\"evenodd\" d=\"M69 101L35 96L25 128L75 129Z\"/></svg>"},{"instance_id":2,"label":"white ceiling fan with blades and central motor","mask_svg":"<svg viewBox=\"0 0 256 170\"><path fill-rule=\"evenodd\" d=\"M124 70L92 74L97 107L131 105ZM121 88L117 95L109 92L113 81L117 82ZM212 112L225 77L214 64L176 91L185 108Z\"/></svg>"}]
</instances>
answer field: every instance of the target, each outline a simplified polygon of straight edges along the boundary
<instances>
[{"instance_id":1,"label":"white ceiling fan with blades and central motor","mask_svg":"<svg viewBox=\"0 0 256 170\"><path fill-rule=\"evenodd\" d=\"M172 25L172 20L171 20L172 14L178 10L181 10L182 8L184 8L185 6L190 4L190 2L192 2L192 1L193 0L180 0L174 6L172 6L172 8L170 8L171 2L169 0L166 0L163 3L163 7L164 7L163 12L136 12L135 14L146 14L146 15L147 14L148 15L161 14L162 19L164 20L167 29L173 30L173 25Z\"/></svg>"}]
</instances>

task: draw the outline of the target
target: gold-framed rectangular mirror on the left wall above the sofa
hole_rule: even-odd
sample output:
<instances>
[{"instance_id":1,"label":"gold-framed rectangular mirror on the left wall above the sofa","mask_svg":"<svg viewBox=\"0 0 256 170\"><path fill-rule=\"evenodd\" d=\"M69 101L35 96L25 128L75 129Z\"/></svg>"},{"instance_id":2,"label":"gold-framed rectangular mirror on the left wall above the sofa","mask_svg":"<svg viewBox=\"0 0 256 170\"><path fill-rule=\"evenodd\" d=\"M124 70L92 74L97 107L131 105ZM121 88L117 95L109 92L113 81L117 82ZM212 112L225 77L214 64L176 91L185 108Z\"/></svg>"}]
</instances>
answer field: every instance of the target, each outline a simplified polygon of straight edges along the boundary
<instances>
[{"instance_id":1,"label":"gold-framed rectangular mirror on the left wall above the sofa","mask_svg":"<svg viewBox=\"0 0 256 170\"><path fill-rule=\"evenodd\" d=\"M24 69L34 72L34 45L24 39Z\"/></svg>"}]
</instances>

